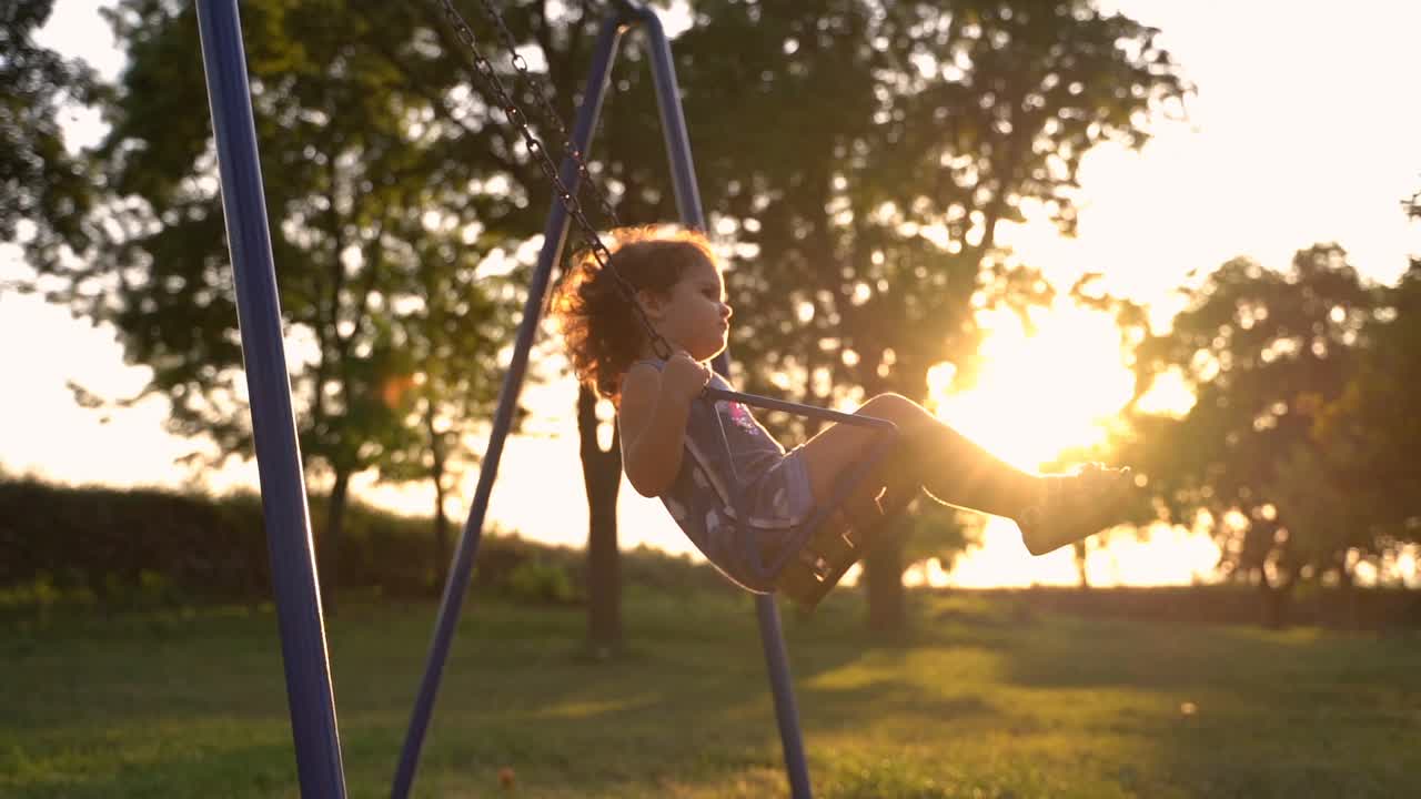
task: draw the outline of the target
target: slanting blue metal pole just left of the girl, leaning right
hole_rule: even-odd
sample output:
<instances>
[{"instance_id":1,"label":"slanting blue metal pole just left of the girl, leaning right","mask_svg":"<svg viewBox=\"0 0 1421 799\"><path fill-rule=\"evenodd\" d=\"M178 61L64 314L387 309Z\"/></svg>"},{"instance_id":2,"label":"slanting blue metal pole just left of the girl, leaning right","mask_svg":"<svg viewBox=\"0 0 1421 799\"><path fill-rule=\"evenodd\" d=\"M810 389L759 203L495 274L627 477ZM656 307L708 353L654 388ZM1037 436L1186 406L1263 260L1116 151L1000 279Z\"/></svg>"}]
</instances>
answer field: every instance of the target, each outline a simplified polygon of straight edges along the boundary
<instances>
[{"instance_id":1,"label":"slanting blue metal pole just left of the girl, leaning right","mask_svg":"<svg viewBox=\"0 0 1421 799\"><path fill-rule=\"evenodd\" d=\"M588 151L593 128L597 127L597 117L601 112L603 98L607 94L607 78L617 57L621 27L621 16L611 13L603 21L597 37L593 67L587 77L585 91L583 92L584 100L578 108L577 121L573 125L573 146L584 154ZM571 158L564 158L560 176L563 185L576 193L580 185L577 162ZM399 756L398 771L395 772L395 783L391 789L394 799L408 796L409 788L414 785L415 768L419 763L419 751L423 746L429 718L433 714L435 695L439 692L445 661L449 658L449 645L459 624L463 597L469 593L473 559L479 552L479 540L483 536L483 520L489 509L489 495L493 492L493 479L499 472L503 444L507 439L509 429L513 427L513 414L517 409L519 392L523 388L523 375L527 371L529 353L533 348L533 338L537 334L543 297L551 281L553 267L563 253L563 246L567 240L567 209L561 202L554 200L547 216L547 223L543 227L543 250L539 253L537 267L533 270L533 280L529 284L529 296L523 304L523 321L519 326L514 341L513 361L509 364L509 371L503 378L503 388L499 392L499 405L493 415L493 432L489 436L489 449L485 452L483 465L479 469L479 483L475 488L473 506L469 509L469 519L463 526L463 533L459 536L459 547L455 552L449 577L445 581L443 600L439 604L439 617L435 623L433 643L429 648L429 661L425 667L423 680L419 684L414 717L409 721L409 732L405 736L405 746Z\"/></svg>"}]
</instances>

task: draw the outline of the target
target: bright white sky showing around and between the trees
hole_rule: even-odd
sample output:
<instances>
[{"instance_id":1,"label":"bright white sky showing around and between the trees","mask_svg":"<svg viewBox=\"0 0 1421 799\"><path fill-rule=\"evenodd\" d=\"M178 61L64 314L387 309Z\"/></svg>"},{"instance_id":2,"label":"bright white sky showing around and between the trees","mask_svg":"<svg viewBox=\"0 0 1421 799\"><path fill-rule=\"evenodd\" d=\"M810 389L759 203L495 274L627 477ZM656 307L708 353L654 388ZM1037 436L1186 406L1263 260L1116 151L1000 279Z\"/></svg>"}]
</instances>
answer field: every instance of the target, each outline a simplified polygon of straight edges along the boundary
<instances>
[{"instance_id":1,"label":"bright white sky showing around and between the trees","mask_svg":"<svg viewBox=\"0 0 1421 799\"><path fill-rule=\"evenodd\" d=\"M41 41L81 55L107 77L121 68L95 0L58 0ZM1100 148L1081 173L1080 236L1063 240L1044 223L1005 236L1026 263L1069 286L1083 272L1104 272L1107 287L1165 311L1169 289L1191 269L1209 270L1236 254L1286 266L1292 253L1336 240L1361 272L1394 280L1407 252L1421 252L1400 200L1421 185L1421 104L1414 102L1414 37L1421 4L1357 1L1346 13L1320 3L1222 0L1107 0L1161 28L1198 87L1187 124L1162 124L1142 152ZM206 108L193 109L206 114ZM695 121L689 121L692 142ZM92 118L75 117L77 142L92 141ZM0 280L24 273L16 252L0 250ZM1006 317L988 343L992 365L982 390L949 401L942 414L1023 466L1059 448L1088 441L1093 424L1128 397L1114 331L1103 318L1060 307L1026 337ZM148 400L101 424L74 405L67 380L108 395L138 391L146 370L128 367L114 336L71 320L36 297L0 294L0 468L63 482L183 485L173 458L193 448L162 429L165 404ZM43 344L41 344L43 343ZM580 545L585 500L577 459L570 384L531 387L530 405L544 435L510 441L490 516L523 535ZM1029 419L1003 428L999 419ZM790 442L786 442L790 444ZM537 479L530 479L531 475ZM252 463L202 481L216 489L256 485ZM469 476L472 493L475 475ZM531 486L537 486L536 489ZM428 489L392 490L357 483L372 502L426 512ZM556 495L550 500L549 492ZM450 508L455 518L466 506ZM661 510L624 490L622 543L689 552ZM1131 535L1093 547L1096 584L1188 583L1206 576L1216 549L1182 530L1157 530L1150 543ZM1414 564L1404 569L1414 574ZM985 546L951 576L929 566L915 579L962 586L1073 583L1069 552L1030 557L1015 526L993 522Z\"/></svg>"}]
</instances>

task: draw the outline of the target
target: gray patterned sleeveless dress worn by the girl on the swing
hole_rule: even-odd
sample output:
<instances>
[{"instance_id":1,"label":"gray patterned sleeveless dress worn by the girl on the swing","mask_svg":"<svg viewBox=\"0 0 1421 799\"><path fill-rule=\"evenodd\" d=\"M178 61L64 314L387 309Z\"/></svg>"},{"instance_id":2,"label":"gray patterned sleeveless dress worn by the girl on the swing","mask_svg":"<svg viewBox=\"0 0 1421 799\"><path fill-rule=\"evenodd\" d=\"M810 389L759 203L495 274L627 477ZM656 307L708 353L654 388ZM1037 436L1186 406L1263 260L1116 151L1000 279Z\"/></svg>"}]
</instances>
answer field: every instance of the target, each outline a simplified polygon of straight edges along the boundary
<instances>
[{"instance_id":1,"label":"gray patterned sleeveless dress worn by the girl on the swing","mask_svg":"<svg viewBox=\"0 0 1421 799\"><path fill-rule=\"evenodd\" d=\"M661 360L638 363L658 371L665 367ZM710 385L730 390L718 374ZM745 490L749 519L743 522L732 499L736 482ZM804 525L813 515L814 496L800 451L784 452L740 402L710 402L703 397L691 402L681 469L661 502L706 560L755 591L774 586L756 572L749 547L759 550L762 563L770 563L801 547L813 532Z\"/></svg>"}]
</instances>

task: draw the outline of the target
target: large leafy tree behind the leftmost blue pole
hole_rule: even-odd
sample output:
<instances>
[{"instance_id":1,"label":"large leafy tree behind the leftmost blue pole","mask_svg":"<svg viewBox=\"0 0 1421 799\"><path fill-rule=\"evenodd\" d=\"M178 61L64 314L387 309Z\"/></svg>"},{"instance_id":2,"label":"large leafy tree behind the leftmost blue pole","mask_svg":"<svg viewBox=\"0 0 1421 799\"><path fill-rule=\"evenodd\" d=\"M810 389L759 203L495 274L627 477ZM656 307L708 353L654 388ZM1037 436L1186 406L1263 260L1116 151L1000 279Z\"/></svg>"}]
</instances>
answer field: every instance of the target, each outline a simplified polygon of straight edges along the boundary
<instances>
[{"instance_id":1,"label":"large leafy tree behind the leftmost blue pole","mask_svg":"<svg viewBox=\"0 0 1421 799\"><path fill-rule=\"evenodd\" d=\"M125 357L152 367L145 392L171 400L175 432L212 438L222 456L244 454L196 14L158 0L107 14L129 61L92 154L108 200L65 237L77 264L38 249L30 259L63 279L55 299L112 321ZM476 135L482 125L455 108L456 75L428 45L422 17L264 0L243 4L243 23L301 449L330 485L330 589L351 476L398 471L394 454L431 444L426 427L408 424L405 388L421 385L431 418L462 421L469 398L459 394L496 371L495 337L480 327L493 297L480 296L479 277L504 266L485 256L530 215L500 178L506 141ZM405 70L445 75L445 91ZM462 300L431 306L455 287Z\"/></svg>"}]
</instances>

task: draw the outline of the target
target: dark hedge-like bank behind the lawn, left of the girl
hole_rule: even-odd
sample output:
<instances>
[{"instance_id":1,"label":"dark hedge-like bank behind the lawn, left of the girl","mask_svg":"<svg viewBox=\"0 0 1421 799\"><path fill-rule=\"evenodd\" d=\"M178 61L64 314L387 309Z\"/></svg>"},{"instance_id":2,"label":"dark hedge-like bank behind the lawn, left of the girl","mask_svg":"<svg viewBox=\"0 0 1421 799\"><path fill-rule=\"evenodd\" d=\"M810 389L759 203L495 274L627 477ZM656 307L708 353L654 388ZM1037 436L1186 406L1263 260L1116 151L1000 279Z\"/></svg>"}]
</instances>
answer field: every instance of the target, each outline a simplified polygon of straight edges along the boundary
<instances>
[{"instance_id":1,"label":"dark hedge-like bank behind the lawn, left of the girl","mask_svg":"<svg viewBox=\"0 0 1421 799\"><path fill-rule=\"evenodd\" d=\"M320 540L324 498L311 498ZM442 590L429 519L351 505L342 590L422 597ZM580 601L584 553L495 532L485 535L475 591ZM624 554L630 583L695 590L722 579L661 552ZM271 599L270 562L254 495L212 498L158 489L68 488L0 479L0 606L176 604ZM3 607L0 607L3 610Z\"/></svg>"}]
</instances>

